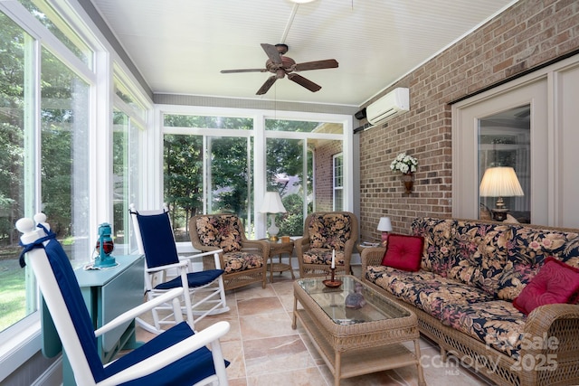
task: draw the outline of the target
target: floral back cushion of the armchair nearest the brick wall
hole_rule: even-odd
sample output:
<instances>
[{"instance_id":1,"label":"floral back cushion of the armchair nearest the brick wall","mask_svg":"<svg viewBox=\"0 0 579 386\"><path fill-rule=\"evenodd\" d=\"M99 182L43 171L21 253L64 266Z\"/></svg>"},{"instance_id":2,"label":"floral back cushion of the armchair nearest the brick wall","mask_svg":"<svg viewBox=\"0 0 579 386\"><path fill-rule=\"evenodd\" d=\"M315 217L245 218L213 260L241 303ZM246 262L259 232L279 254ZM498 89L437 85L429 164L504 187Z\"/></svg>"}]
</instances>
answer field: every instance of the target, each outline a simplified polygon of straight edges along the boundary
<instances>
[{"instance_id":1,"label":"floral back cushion of the armchair nearest the brick wall","mask_svg":"<svg viewBox=\"0 0 579 386\"><path fill-rule=\"evenodd\" d=\"M344 213L323 213L311 217L308 223L311 248L342 250L350 239L350 216ZM331 259L331 256L330 256Z\"/></svg>"}]
</instances>

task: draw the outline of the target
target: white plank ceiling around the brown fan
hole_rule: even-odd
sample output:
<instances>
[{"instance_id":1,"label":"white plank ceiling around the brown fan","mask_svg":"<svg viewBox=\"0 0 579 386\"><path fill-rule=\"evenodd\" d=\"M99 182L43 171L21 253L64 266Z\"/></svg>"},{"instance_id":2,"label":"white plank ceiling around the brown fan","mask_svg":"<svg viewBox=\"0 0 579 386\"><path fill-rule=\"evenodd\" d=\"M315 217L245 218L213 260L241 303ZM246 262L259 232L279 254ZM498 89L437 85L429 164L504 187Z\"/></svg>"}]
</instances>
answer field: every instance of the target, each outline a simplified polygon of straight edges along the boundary
<instances>
[{"instance_id":1,"label":"white plank ceiling around the brown fan","mask_svg":"<svg viewBox=\"0 0 579 386\"><path fill-rule=\"evenodd\" d=\"M155 93L360 106L516 0L91 0ZM260 43L286 43L311 92L269 72Z\"/></svg>"}]
</instances>

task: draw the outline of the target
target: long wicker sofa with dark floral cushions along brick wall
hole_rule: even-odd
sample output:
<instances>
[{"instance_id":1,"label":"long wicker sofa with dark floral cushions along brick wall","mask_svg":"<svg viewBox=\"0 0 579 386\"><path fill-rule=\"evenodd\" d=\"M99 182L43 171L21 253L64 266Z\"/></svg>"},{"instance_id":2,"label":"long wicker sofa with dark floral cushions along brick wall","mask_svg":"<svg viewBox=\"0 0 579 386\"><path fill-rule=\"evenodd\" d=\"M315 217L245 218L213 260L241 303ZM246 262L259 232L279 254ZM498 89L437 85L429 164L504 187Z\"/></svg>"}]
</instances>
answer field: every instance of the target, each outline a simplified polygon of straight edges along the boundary
<instances>
[{"instance_id":1,"label":"long wicker sofa with dark floral cushions along brick wall","mask_svg":"<svg viewBox=\"0 0 579 386\"><path fill-rule=\"evenodd\" d=\"M499 385L579 384L577 298L528 315L513 304L548 257L579 268L579 230L422 218L412 234L424 240L418 271L385 267L385 249L366 248L362 277L413 306L443 361L451 353Z\"/></svg>"}]
</instances>

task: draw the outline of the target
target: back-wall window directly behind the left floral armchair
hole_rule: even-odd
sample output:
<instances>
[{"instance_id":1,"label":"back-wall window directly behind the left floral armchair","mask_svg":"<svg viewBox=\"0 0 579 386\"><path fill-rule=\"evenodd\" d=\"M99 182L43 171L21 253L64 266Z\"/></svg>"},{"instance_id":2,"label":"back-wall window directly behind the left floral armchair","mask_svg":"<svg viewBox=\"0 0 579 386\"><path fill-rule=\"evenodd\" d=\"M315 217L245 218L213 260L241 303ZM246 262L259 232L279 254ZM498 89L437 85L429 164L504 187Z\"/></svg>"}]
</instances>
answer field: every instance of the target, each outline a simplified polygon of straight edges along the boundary
<instances>
[{"instance_id":1,"label":"back-wall window directly behind the left floral armchair","mask_svg":"<svg viewBox=\"0 0 579 386\"><path fill-rule=\"evenodd\" d=\"M177 241L189 240L188 219L229 212L253 233L252 119L166 115L165 202Z\"/></svg>"}]
</instances>

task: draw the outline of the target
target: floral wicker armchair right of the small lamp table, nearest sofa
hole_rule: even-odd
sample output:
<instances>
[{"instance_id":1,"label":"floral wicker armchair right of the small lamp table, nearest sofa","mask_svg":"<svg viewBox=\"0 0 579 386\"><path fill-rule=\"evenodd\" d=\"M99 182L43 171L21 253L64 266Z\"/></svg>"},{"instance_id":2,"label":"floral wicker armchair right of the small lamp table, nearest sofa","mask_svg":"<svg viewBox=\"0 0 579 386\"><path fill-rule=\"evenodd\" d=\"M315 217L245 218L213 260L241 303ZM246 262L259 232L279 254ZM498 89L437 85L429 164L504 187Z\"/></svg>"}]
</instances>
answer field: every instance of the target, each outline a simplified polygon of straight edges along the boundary
<instances>
[{"instance_id":1,"label":"floral wicker armchair right of the small lamp table, nearest sofa","mask_svg":"<svg viewBox=\"0 0 579 386\"><path fill-rule=\"evenodd\" d=\"M336 250L336 272L349 274L358 239L358 220L351 212L314 212L304 221L304 235L295 240L299 276L327 275Z\"/></svg>"}]
</instances>

